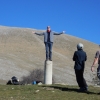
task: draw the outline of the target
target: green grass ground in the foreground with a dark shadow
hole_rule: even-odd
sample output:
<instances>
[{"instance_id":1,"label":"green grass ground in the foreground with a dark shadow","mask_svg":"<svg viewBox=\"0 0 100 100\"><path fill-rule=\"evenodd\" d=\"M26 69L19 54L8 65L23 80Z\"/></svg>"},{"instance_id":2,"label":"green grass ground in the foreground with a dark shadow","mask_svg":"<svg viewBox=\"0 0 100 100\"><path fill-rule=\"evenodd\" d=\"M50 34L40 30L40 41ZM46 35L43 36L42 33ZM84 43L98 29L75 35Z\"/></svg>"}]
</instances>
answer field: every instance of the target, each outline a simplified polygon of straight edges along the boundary
<instances>
[{"instance_id":1,"label":"green grass ground in the foreground with a dark shadow","mask_svg":"<svg viewBox=\"0 0 100 100\"><path fill-rule=\"evenodd\" d=\"M100 100L100 88L89 86L89 92L77 92L77 86L0 85L0 100Z\"/></svg>"}]
</instances>

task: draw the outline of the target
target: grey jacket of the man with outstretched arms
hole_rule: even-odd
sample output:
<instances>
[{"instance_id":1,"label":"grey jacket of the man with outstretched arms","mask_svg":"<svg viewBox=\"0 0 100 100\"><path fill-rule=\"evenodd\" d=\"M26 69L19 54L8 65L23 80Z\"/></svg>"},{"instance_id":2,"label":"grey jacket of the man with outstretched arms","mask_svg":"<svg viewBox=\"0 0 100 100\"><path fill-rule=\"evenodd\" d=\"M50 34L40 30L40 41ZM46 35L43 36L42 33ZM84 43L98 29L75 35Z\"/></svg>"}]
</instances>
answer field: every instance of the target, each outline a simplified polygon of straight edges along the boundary
<instances>
[{"instance_id":1,"label":"grey jacket of the man with outstretched arms","mask_svg":"<svg viewBox=\"0 0 100 100\"><path fill-rule=\"evenodd\" d=\"M42 35L44 35L44 43L45 42L48 42L47 40L48 40L48 33L47 32L43 32L43 33L35 33L35 34L37 34L37 35L40 35L40 36L42 36ZM55 33L55 32L50 32L50 42L54 42L54 36L53 35L60 35L60 34L63 34L63 33Z\"/></svg>"}]
</instances>

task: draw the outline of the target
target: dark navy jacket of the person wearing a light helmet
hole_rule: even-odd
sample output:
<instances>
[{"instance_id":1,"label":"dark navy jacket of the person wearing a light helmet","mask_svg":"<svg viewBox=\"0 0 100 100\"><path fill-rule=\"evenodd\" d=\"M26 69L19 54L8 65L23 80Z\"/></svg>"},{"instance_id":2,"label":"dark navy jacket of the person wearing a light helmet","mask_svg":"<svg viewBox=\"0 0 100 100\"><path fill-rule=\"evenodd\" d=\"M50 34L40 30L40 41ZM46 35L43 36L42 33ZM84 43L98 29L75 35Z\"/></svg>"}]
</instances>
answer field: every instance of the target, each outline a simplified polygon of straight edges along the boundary
<instances>
[{"instance_id":1,"label":"dark navy jacket of the person wearing a light helmet","mask_svg":"<svg viewBox=\"0 0 100 100\"><path fill-rule=\"evenodd\" d=\"M73 61L75 61L74 69L84 70L86 60L87 60L86 52L84 52L83 50L75 51L73 55Z\"/></svg>"}]
</instances>

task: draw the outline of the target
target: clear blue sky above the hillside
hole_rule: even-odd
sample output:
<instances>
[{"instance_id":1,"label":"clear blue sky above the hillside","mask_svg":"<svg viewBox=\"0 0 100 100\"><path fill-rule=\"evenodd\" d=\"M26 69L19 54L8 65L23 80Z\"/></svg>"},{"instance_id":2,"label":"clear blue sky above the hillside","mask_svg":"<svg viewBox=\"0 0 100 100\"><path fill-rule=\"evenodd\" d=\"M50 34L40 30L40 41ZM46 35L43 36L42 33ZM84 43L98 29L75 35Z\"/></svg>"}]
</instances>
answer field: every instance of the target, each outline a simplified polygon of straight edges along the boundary
<instances>
[{"instance_id":1,"label":"clear blue sky above the hillside","mask_svg":"<svg viewBox=\"0 0 100 100\"><path fill-rule=\"evenodd\" d=\"M66 31L100 44L100 0L0 0L0 25Z\"/></svg>"}]
</instances>

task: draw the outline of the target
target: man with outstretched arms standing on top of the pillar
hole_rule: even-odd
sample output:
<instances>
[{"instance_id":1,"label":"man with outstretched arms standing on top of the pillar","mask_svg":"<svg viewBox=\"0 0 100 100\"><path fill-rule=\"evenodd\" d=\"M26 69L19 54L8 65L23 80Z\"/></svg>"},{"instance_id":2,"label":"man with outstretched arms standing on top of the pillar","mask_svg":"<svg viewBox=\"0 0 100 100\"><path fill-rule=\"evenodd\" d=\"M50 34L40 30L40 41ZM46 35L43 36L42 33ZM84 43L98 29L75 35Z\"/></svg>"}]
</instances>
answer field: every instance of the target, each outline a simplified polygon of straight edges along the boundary
<instances>
[{"instance_id":1,"label":"man with outstretched arms standing on top of the pillar","mask_svg":"<svg viewBox=\"0 0 100 100\"><path fill-rule=\"evenodd\" d=\"M52 61L52 46L54 42L54 35L63 34L64 31L61 33L56 33L56 32L51 31L50 26L47 26L46 32L43 32L43 33L33 32L33 33L35 33L36 35L40 35L40 36L44 35L44 44L45 44L45 49L46 49L46 61L47 60Z\"/></svg>"}]
</instances>

